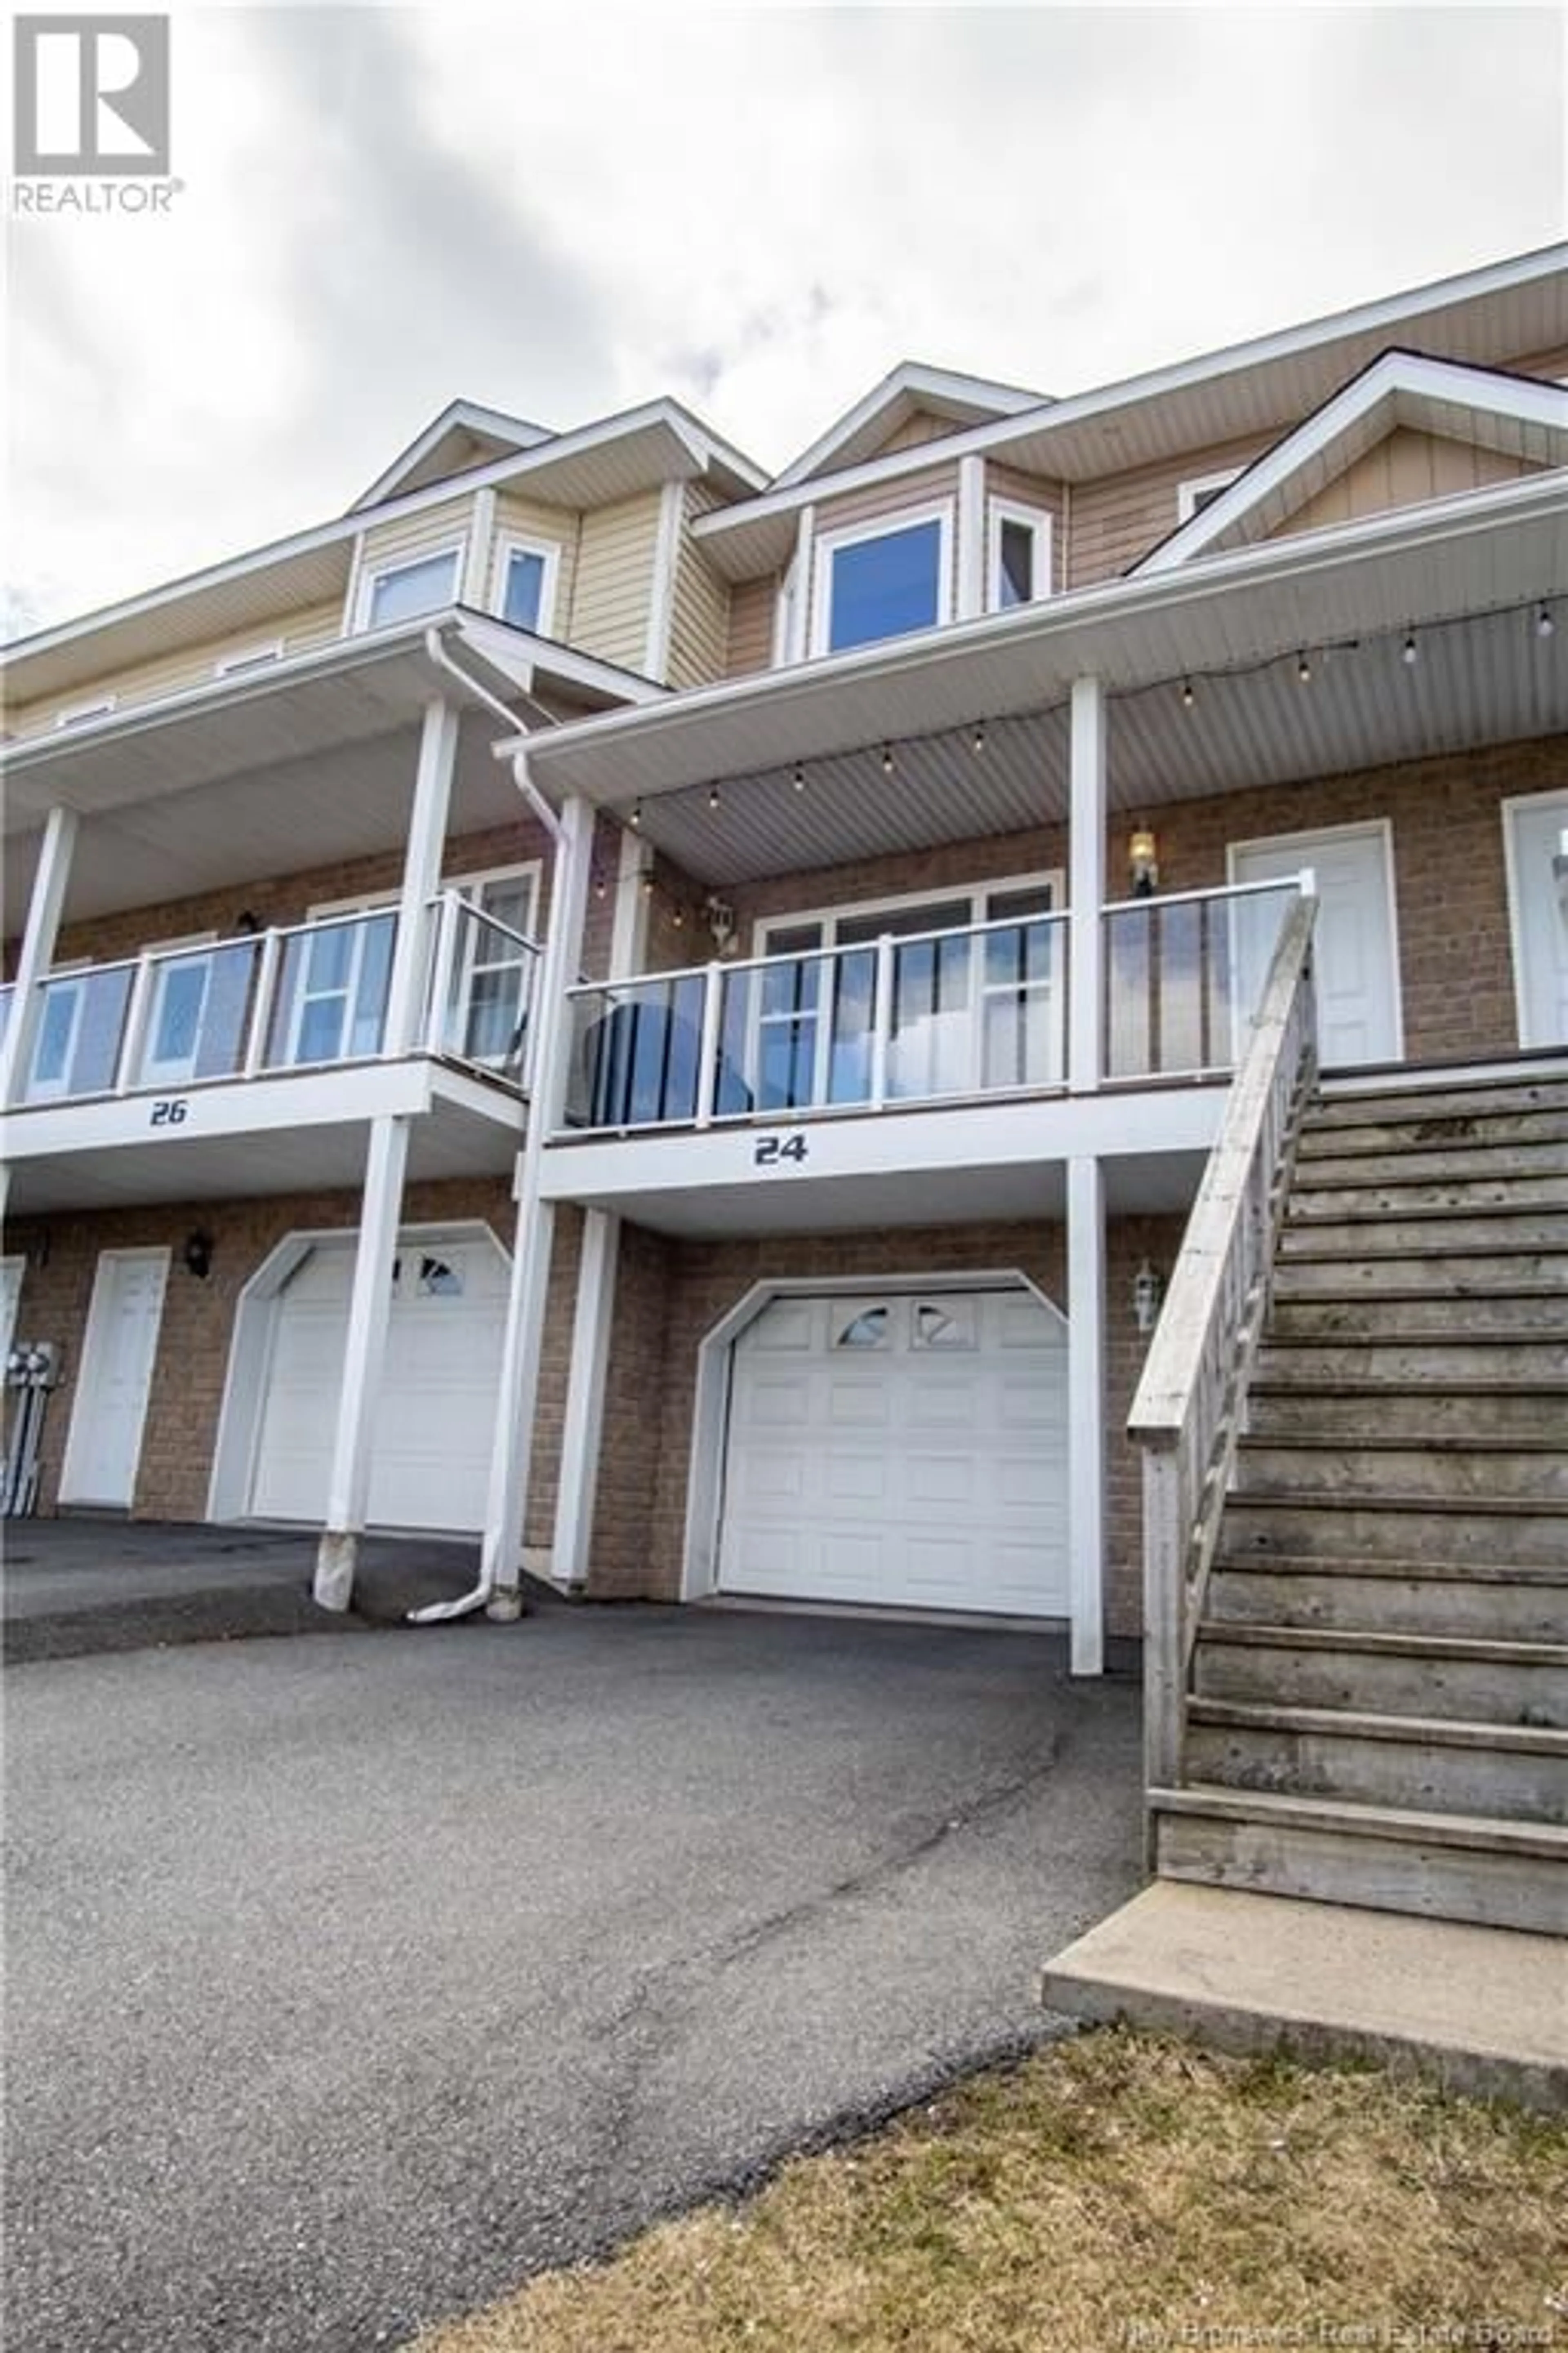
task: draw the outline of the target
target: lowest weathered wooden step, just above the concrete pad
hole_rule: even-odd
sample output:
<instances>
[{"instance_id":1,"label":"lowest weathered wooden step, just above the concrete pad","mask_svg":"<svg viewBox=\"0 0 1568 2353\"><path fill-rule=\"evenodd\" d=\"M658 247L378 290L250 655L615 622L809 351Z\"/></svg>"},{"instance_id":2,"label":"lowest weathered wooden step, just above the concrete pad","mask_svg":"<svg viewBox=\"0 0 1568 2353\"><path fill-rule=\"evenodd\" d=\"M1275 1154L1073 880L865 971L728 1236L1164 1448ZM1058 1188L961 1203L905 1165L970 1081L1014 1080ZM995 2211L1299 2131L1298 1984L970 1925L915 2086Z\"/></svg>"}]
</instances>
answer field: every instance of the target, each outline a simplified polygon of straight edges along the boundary
<instances>
[{"instance_id":1,"label":"lowest weathered wooden step, just above the concrete pad","mask_svg":"<svg viewBox=\"0 0 1568 2353\"><path fill-rule=\"evenodd\" d=\"M1568 1934L1568 1831L1269 1791L1150 1791L1161 1875Z\"/></svg>"}]
</instances>

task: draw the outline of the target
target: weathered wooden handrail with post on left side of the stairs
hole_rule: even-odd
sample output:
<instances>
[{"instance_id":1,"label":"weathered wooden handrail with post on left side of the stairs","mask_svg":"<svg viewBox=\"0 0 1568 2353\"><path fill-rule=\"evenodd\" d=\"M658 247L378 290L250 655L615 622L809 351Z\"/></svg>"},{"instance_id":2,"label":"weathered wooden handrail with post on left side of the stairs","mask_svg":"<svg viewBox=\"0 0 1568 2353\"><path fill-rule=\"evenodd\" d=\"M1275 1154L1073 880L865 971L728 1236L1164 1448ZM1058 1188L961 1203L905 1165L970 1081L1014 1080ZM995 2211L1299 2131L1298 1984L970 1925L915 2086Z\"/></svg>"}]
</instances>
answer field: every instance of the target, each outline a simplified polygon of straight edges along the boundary
<instances>
[{"instance_id":1,"label":"weathered wooden handrail with post on left side of the stairs","mask_svg":"<svg viewBox=\"0 0 1568 2353\"><path fill-rule=\"evenodd\" d=\"M1128 1438L1143 1447L1145 1781L1182 1769L1187 1675L1237 1459L1295 1136L1316 1071L1312 922L1286 915L1187 1221Z\"/></svg>"}]
</instances>

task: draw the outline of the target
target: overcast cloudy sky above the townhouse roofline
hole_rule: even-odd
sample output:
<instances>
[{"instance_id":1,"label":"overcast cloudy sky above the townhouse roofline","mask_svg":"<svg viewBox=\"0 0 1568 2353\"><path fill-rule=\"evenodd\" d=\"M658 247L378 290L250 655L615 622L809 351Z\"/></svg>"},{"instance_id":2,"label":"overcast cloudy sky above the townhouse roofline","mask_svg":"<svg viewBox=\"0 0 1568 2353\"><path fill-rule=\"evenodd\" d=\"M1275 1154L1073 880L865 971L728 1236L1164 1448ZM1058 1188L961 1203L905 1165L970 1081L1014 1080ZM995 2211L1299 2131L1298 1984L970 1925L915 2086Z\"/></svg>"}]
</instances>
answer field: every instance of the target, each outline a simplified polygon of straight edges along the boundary
<instances>
[{"instance_id":1,"label":"overcast cloudy sky above the townhouse roofline","mask_svg":"<svg viewBox=\"0 0 1568 2353\"><path fill-rule=\"evenodd\" d=\"M1568 205L1556 5L172 14L174 214L9 224L12 631L456 395L675 393L773 471L900 358L1084 391Z\"/></svg>"}]
</instances>

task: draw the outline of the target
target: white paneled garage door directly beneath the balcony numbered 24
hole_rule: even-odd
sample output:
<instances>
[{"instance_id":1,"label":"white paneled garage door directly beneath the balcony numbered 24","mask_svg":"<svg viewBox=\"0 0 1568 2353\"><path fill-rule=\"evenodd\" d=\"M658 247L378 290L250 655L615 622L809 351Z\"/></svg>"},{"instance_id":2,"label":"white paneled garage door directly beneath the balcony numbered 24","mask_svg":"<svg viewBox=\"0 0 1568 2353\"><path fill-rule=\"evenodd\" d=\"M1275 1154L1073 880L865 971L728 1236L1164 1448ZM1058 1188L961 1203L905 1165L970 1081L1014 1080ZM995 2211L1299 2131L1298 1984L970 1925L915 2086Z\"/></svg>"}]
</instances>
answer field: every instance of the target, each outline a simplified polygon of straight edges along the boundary
<instances>
[{"instance_id":1,"label":"white paneled garage door directly beneath the balcony numbered 24","mask_svg":"<svg viewBox=\"0 0 1568 2353\"><path fill-rule=\"evenodd\" d=\"M1067 1327L1030 1292L776 1299L733 1348L719 1586L1067 1614Z\"/></svg>"}]
</instances>

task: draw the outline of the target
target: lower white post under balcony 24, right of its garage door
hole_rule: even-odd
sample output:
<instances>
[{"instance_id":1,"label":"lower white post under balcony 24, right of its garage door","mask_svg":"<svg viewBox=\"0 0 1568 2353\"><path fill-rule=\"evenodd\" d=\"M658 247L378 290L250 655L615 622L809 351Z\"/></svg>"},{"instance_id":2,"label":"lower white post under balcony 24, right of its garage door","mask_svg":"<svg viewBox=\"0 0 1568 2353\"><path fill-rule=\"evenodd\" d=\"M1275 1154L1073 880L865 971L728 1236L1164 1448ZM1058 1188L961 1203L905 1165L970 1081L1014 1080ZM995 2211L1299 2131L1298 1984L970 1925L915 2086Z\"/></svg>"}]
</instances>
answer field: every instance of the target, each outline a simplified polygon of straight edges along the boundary
<instances>
[{"instance_id":1,"label":"lower white post under balcony 24, right of its garage door","mask_svg":"<svg viewBox=\"0 0 1568 2353\"><path fill-rule=\"evenodd\" d=\"M1067 1593L1072 1673L1105 1668L1105 1181L1067 1162Z\"/></svg>"}]
</instances>

